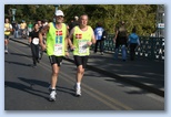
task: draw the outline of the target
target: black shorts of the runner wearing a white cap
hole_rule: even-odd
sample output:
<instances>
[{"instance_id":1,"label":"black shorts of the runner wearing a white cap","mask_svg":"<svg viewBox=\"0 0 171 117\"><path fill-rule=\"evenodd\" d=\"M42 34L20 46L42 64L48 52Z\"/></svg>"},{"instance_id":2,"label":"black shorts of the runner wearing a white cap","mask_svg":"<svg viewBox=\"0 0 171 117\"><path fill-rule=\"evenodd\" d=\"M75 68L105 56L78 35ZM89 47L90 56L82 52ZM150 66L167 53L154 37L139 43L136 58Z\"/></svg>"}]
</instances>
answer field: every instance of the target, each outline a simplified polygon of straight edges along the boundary
<instances>
[{"instance_id":1,"label":"black shorts of the runner wearing a white cap","mask_svg":"<svg viewBox=\"0 0 171 117\"><path fill-rule=\"evenodd\" d=\"M58 64L58 66L61 66L63 56L51 55L49 56L49 60L50 60L51 65Z\"/></svg>"}]
</instances>

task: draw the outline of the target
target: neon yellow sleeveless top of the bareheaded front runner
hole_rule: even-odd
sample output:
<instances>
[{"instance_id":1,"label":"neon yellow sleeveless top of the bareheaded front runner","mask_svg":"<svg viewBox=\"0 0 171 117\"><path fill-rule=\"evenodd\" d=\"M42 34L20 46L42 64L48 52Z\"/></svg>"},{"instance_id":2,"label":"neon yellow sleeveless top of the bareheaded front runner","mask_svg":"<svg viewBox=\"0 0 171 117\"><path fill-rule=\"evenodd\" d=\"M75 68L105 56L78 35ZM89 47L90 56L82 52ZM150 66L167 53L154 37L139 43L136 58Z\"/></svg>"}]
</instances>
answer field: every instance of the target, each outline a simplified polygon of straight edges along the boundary
<instances>
[{"instance_id":1,"label":"neon yellow sleeveless top of the bareheaded front runner","mask_svg":"<svg viewBox=\"0 0 171 117\"><path fill-rule=\"evenodd\" d=\"M87 31L81 31L79 26L74 26L73 32L73 55L86 56L90 54L90 46L87 44L91 41L92 28L88 25Z\"/></svg>"}]
</instances>

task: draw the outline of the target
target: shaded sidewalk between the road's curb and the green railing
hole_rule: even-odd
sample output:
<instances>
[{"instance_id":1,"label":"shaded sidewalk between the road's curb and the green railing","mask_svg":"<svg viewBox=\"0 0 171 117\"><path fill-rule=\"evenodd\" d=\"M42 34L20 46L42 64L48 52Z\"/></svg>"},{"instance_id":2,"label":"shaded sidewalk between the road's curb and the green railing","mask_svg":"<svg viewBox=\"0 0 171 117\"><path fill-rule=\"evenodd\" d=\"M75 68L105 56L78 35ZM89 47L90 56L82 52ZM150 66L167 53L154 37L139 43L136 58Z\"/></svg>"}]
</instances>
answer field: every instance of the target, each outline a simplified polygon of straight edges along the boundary
<instances>
[{"instance_id":1,"label":"shaded sidewalk between the road's curb and the green railing","mask_svg":"<svg viewBox=\"0 0 171 117\"><path fill-rule=\"evenodd\" d=\"M10 40L29 45L27 39ZM114 60L113 53L104 52L101 55L100 52L94 54L91 51L87 68L112 77L113 81L109 82L124 82L164 97L164 61L139 57L123 62L120 57ZM66 61L74 62L72 53Z\"/></svg>"}]
</instances>

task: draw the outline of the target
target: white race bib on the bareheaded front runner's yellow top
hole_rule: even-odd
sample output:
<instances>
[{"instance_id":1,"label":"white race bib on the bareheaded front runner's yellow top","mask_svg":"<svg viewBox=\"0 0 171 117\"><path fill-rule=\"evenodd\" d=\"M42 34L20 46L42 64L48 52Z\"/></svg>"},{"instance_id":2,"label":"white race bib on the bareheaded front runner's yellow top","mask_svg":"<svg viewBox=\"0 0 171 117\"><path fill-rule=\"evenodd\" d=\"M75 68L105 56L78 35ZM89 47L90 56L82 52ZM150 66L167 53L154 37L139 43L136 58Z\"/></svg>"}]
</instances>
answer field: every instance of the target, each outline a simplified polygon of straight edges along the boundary
<instances>
[{"instance_id":1,"label":"white race bib on the bareheaded front runner's yellow top","mask_svg":"<svg viewBox=\"0 0 171 117\"><path fill-rule=\"evenodd\" d=\"M80 41L79 42L79 53L83 54L83 53L87 53L87 51L88 51L87 41Z\"/></svg>"}]
</instances>

